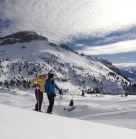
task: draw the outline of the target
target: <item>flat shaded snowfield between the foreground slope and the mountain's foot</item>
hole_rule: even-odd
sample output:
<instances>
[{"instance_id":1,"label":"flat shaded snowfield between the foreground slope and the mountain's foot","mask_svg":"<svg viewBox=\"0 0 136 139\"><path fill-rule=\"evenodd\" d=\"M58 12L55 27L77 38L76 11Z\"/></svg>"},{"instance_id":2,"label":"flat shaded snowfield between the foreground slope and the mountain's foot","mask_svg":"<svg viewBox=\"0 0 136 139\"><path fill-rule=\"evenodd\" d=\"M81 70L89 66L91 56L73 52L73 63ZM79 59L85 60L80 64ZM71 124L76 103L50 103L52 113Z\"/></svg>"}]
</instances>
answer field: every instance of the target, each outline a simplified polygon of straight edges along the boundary
<instances>
[{"instance_id":1,"label":"flat shaded snowfield between the foreground slope and the mountain's foot","mask_svg":"<svg viewBox=\"0 0 136 139\"><path fill-rule=\"evenodd\" d=\"M72 94L73 91L75 91L74 95ZM82 97L76 90L73 91L63 95L61 100L59 99L60 96L57 96L61 108L55 101L53 109L55 115L136 129L136 96L86 94L85 97ZM36 103L34 89L31 91L1 90L0 98L0 104L30 111L34 109ZM63 111L63 108L69 105L72 98L76 109L71 112ZM43 112L46 111L48 103L47 96L44 94Z\"/></svg>"}]
</instances>

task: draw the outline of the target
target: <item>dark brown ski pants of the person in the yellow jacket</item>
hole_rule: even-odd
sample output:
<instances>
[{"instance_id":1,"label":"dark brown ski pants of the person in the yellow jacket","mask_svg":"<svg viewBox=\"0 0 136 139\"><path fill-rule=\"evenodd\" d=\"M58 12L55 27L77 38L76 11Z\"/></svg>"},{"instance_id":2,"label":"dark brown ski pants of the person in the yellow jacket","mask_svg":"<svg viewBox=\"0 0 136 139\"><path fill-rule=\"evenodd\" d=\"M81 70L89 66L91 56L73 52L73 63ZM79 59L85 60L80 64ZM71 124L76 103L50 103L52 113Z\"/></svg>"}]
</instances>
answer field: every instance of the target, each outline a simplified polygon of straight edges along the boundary
<instances>
[{"instance_id":1,"label":"dark brown ski pants of the person in the yellow jacket","mask_svg":"<svg viewBox=\"0 0 136 139\"><path fill-rule=\"evenodd\" d=\"M41 110L41 106L42 106L43 92L41 92L39 89L36 89L35 90L35 97L37 100L37 103L35 104L35 110L39 111L39 110Z\"/></svg>"}]
</instances>

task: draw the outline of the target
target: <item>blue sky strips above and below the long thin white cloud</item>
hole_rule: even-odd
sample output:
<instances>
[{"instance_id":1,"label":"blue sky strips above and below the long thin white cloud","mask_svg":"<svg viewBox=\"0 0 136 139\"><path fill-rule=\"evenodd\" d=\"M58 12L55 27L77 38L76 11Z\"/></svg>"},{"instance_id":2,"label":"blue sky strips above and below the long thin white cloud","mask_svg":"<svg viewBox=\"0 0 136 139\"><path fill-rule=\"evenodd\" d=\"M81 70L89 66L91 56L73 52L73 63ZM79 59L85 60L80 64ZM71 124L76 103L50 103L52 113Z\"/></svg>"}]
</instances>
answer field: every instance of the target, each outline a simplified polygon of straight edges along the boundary
<instances>
[{"instance_id":1,"label":"blue sky strips above and below the long thin white cloud","mask_svg":"<svg viewBox=\"0 0 136 139\"><path fill-rule=\"evenodd\" d=\"M119 31L115 31L109 33L104 37L94 37L89 39L79 39L73 40L71 43L67 43L74 50L82 50L84 46L95 47L95 46L103 46L110 45L113 43L118 43L120 41L128 41L136 39L136 27L132 27L129 29L123 29ZM78 44L78 45L77 45ZM129 47L129 46L128 46ZM99 54L95 55L99 58L105 58L111 61L112 63L136 63L136 50L131 52L122 52L115 54Z\"/></svg>"}]
</instances>

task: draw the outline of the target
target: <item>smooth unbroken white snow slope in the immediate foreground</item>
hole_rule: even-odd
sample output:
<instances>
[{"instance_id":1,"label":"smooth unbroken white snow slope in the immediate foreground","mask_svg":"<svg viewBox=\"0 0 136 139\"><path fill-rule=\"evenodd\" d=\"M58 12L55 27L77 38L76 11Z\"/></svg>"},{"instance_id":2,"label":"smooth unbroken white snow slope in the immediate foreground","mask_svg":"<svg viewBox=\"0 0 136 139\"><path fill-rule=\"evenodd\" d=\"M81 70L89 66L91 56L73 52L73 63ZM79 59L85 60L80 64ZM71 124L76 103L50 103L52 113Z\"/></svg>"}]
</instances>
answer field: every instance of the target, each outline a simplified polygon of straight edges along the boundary
<instances>
[{"instance_id":1,"label":"smooth unbroken white snow slope in the immediate foreground","mask_svg":"<svg viewBox=\"0 0 136 139\"><path fill-rule=\"evenodd\" d=\"M41 114L0 104L1 139L135 139L135 130Z\"/></svg>"}]
</instances>

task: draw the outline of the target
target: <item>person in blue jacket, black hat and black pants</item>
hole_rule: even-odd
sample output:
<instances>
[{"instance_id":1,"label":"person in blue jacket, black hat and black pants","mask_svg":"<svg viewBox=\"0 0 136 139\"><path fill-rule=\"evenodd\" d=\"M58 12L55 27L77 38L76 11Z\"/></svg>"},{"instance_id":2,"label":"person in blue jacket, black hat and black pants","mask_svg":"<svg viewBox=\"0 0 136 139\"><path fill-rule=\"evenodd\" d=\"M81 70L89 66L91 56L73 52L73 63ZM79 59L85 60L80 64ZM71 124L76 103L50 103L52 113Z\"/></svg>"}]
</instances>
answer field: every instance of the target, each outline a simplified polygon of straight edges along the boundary
<instances>
[{"instance_id":1,"label":"person in blue jacket, black hat and black pants","mask_svg":"<svg viewBox=\"0 0 136 139\"><path fill-rule=\"evenodd\" d=\"M45 84L45 93L47 93L47 97L49 100L49 106L47 109L47 113L49 114L52 114L52 109L54 106L54 97L56 97L55 88L59 90L60 95L63 95L62 91L59 89L59 87L56 85L54 81L54 75L49 73L48 79L46 80L46 84Z\"/></svg>"}]
</instances>

